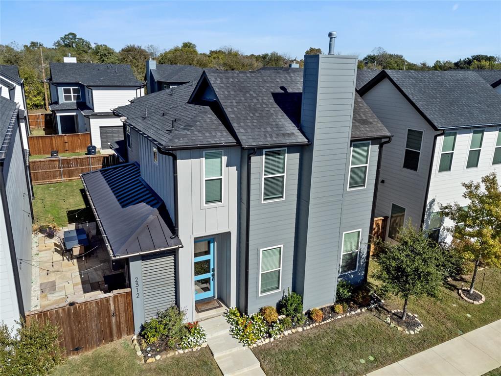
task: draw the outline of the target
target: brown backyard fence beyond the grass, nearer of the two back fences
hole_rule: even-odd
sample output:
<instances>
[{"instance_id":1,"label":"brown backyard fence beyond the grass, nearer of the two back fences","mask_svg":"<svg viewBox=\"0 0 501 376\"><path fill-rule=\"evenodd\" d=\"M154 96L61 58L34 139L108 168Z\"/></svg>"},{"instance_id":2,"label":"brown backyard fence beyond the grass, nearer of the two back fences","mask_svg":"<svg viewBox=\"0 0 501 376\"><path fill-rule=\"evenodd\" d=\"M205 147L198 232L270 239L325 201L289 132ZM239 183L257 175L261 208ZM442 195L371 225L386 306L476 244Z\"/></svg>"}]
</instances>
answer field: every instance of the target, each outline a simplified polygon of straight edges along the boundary
<instances>
[{"instance_id":1,"label":"brown backyard fence beyond the grass, nearer of the two back fences","mask_svg":"<svg viewBox=\"0 0 501 376\"><path fill-rule=\"evenodd\" d=\"M115 154L81 155L30 160L33 184L59 183L80 179L80 174L118 164Z\"/></svg>"}]
</instances>

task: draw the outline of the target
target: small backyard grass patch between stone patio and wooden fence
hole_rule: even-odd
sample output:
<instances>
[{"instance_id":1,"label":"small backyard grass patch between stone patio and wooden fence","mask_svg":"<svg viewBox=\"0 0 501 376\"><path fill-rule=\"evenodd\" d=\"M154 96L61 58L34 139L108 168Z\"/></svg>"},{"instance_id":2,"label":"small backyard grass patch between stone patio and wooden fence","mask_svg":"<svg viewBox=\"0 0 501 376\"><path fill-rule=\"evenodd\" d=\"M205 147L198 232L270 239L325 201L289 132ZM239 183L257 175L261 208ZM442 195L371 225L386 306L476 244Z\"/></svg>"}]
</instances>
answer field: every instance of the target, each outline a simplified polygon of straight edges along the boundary
<instances>
[{"instance_id":1,"label":"small backyard grass patch between stone patio and wooden fence","mask_svg":"<svg viewBox=\"0 0 501 376\"><path fill-rule=\"evenodd\" d=\"M94 221L86 208L84 187L81 180L64 183L34 185L33 212L36 224L66 226L68 222Z\"/></svg>"}]
</instances>

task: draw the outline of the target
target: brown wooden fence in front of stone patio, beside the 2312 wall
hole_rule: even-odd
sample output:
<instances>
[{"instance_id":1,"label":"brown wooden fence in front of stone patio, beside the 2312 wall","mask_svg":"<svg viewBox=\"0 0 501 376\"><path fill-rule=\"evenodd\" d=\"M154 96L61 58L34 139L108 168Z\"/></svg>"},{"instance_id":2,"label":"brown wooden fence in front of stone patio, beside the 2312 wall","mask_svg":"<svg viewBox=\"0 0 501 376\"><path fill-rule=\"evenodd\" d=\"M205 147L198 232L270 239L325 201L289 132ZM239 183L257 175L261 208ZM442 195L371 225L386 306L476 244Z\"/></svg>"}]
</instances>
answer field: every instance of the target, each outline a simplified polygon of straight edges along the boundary
<instances>
[{"instance_id":1,"label":"brown wooden fence in front of stone patio, beside the 2312 wall","mask_svg":"<svg viewBox=\"0 0 501 376\"><path fill-rule=\"evenodd\" d=\"M58 325L59 344L67 355L88 352L134 334L131 292L116 290L94 300L28 312L26 323L33 321Z\"/></svg>"}]
</instances>

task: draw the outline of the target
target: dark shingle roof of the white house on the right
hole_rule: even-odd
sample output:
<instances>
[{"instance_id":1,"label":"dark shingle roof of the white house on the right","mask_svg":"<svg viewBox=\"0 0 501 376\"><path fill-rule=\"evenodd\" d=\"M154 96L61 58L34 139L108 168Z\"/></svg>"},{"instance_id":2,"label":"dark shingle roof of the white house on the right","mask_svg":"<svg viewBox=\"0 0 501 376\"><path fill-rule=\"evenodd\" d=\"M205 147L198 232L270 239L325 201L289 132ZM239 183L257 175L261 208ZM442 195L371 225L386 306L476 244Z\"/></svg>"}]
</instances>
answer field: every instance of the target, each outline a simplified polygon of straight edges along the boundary
<instances>
[{"instance_id":1,"label":"dark shingle roof of the white house on the right","mask_svg":"<svg viewBox=\"0 0 501 376\"><path fill-rule=\"evenodd\" d=\"M436 128L501 124L501 95L472 71L382 71Z\"/></svg>"}]
</instances>

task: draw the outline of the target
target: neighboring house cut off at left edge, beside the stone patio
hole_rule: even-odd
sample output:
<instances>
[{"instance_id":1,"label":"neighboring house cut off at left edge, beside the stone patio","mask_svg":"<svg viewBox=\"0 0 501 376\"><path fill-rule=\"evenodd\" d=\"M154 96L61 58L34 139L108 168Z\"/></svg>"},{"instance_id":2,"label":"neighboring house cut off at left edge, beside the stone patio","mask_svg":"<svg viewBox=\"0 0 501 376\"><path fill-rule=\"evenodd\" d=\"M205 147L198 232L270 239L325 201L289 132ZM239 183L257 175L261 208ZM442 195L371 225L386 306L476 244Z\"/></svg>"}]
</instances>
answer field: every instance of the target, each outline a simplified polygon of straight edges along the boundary
<instances>
[{"instance_id":1,"label":"neighboring house cut off at left edge, beside the stone patio","mask_svg":"<svg viewBox=\"0 0 501 376\"><path fill-rule=\"evenodd\" d=\"M31 308L32 198L20 105L0 96L0 321L9 327Z\"/></svg>"}]
</instances>

